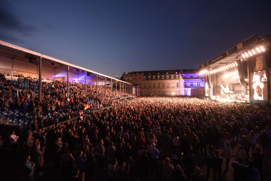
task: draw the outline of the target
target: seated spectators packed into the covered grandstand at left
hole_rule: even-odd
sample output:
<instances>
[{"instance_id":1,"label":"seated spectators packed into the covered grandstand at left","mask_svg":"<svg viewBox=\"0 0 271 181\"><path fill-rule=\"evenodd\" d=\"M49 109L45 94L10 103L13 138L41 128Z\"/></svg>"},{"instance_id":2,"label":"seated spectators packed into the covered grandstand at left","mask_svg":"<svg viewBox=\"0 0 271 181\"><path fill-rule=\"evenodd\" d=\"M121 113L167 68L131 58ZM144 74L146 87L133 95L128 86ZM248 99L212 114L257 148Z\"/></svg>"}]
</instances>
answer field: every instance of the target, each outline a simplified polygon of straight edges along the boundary
<instances>
[{"instance_id":1,"label":"seated spectators packed into the covered grandstand at left","mask_svg":"<svg viewBox=\"0 0 271 181\"><path fill-rule=\"evenodd\" d=\"M85 84L70 82L69 96L67 82L53 81L50 86L47 82L42 82L42 98L34 93L38 87L32 78L25 78L29 83L29 90L20 87L19 81L6 81L0 86L0 109L2 111L17 110L28 113L27 129L36 131L38 128L44 128L49 125L72 119L76 116L85 114L86 111L93 112L104 107L111 106L115 97L129 95L108 88L106 95L104 86L87 84L85 96ZM20 91L15 91L15 87ZM17 96L15 96L17 95ZM24 116L18 116L18 119L24 120ZM37 121L37 124L35 123Z\"/></svg>"}]
</instances>

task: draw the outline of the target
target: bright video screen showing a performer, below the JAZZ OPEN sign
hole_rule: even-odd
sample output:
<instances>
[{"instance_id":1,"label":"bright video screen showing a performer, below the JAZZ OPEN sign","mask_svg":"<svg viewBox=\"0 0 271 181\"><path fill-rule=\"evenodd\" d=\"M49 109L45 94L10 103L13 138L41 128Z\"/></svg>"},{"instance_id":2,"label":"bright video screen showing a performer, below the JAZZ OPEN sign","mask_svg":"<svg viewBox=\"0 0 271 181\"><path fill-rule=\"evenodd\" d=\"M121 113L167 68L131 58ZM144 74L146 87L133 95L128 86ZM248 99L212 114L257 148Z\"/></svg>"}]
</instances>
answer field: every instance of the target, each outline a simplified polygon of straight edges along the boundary
<instances>
[{"instance_id":1,"label":"bright video screen showing a performer, below the JAZZ OPEN sign","mask_svg":"<svg viewBox=\"0 0 271 181\"><path fill-rule=\"evenodd\" d=\"M250 73L251 98L254 100L268 100L266 70Z\"/></svg>"}]
</instances>

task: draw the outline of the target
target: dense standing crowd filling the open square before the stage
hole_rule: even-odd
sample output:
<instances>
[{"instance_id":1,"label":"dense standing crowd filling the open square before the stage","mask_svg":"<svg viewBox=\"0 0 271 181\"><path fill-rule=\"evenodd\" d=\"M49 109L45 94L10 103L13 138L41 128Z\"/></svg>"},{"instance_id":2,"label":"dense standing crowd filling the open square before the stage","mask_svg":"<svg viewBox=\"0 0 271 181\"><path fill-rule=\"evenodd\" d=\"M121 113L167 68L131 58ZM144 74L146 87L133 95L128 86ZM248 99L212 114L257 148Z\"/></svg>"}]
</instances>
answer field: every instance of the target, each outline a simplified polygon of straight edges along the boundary
<instances>
[{"instance_id":1,"label":"dense standing crowd filling the open square before the stage","mask_svg":"<svg viewBox=\"0 0 271 181\"><path fill-rule=\"evenodd\" d=\"M57 82L54 87L61 90L57 91L60 99L64 98L67 92ZM70 101L86 101L79 86L72 84L70 91ZM104 96L99 103L106 105L108 101ZM48 132L38 126L35 137L30 132L24 147L27 179L34 179L35 167L37 176L43 175L43 154L49 144L54 153L47 154L55 155L55 167L61 169L64 180L84 180L85 174L98 176L96 166L107 170L109 180L125 180L131 169L142 180L157 177L167 181L211 180L212 169L212 180L221 180L223 163L226 174L234 180L264 180L263 160L269 157L271 140L270 112L181 97L138 97L110 105L95 114L56 124ZM13 132L11 145L16 140ZM235 144L238 149L233 152ZM34 162L30 156L35 157ZM233 173L230 160L234 160ZM201 173L202 166L207 167L206 175Z\"/></svg>"}]
</instances>

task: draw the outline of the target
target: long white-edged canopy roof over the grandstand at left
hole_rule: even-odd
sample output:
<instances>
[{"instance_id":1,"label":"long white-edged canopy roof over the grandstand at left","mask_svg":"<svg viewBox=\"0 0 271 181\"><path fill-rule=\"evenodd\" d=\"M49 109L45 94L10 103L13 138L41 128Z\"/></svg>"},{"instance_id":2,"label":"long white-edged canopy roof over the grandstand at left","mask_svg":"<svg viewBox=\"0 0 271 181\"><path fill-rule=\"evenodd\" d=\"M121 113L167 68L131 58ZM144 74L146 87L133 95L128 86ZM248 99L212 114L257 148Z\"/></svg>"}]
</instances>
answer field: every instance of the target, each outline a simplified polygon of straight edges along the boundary
<instances>
[{"instance_id":1,"label":"long white-edged canopy roof over the grandstand at left","mask_svg":"<svg viewBox=\"0 0 271 181\"><path fill-rule=\"evenodd\" d=\"M112 81L120 81L120 82L124 82L127 84L130 84L128 82L125 81L121 81L119 79L104 75L104 74L100 74L96 71L92 71L83 67L79 67L77 65L73 65L70 64L68 62L64 62L62 60L58 60L55 58L52 58L50 56L46 56L43 55L41 53L38 52L34 52L32 50L29 49L25 49L22 48L20 46L16 46L4 41L0 40L0 59L8 59L8 60L14 60L16 63L22 62L22 63L26 63L26 64L32 64L29 62L29 58L26 58L25 56L31 56L31 57L36 57L37 59L37 63L35 63L35 65L39 64L39 57L42 57L42 67L46 67L46 68L51 68L51 69L57 69L60 71L67 71L67 66L69 65L69 71L74 71L77 72L80 75L85 75L86 71L87 73L90 73L90 76L88 77L96 77L96 75L98 75L99 79L104 79L105 77L108 79L112 79ZM36 70L33 70L33 72L35 72ZM82 72L83 71L83 72Z\"/></svg>"}]
</instances>

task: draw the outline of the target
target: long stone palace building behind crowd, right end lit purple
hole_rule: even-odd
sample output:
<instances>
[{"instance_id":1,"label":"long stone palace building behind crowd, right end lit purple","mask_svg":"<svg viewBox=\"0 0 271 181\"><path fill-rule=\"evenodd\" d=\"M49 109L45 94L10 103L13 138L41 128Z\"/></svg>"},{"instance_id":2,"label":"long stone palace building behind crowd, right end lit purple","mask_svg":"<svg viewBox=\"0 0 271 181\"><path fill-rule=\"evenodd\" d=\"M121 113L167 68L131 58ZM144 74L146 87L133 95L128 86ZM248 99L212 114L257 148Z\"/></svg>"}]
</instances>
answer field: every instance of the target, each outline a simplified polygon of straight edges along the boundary
<instances>
[{"instance_id":1,"label":"long stone palace building behind crowd, right end lit purple","mask_svg":"<svg viewBox=\"0 0 271 181\"><path fill-rule=\"evenodd\" d=\"M198 69L124 72L120 79L139 85L141 96L191 96L191 89L205 86Z\"/></svg>"}]
</instances>

